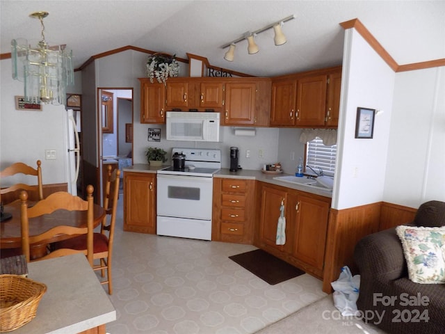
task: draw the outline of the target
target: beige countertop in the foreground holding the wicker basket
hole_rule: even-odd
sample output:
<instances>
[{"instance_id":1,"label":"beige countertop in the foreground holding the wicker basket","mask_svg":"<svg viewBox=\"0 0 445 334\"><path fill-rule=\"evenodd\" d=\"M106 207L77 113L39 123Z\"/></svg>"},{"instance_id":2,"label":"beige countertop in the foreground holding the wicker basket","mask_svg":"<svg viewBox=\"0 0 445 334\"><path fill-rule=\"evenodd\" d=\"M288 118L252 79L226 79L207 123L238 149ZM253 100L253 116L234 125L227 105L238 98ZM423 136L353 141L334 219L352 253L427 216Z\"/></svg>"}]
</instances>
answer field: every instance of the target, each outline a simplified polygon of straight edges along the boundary
<instances>
[{"instance_id":1,"label":"beige countertop in the foreground holding the wicker basket","mask_svg":"<svg viewBox=\"0 0 445 334\"><path fill-rule=\"evenodd\" d=\"M35 318L14 334L74 334L115 321L115 308L85 255L31 262L28 271L47 292Z\"/></svg>"}]
</instances>

